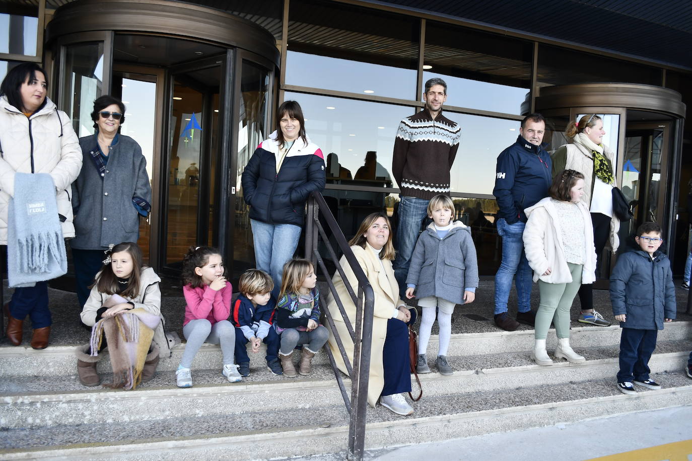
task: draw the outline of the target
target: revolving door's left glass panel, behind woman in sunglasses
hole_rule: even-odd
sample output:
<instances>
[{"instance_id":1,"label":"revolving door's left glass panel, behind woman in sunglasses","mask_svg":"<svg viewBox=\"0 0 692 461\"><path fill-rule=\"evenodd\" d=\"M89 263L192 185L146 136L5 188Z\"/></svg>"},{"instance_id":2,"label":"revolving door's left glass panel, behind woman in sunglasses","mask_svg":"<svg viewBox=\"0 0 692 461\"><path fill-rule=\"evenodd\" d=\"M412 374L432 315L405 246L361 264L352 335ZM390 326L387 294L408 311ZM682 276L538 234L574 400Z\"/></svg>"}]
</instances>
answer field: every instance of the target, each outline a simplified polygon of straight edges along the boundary
<instances>
[{"instance_id":1,"label":"revolving door's left glass panel, behind woman in sunglasses","mask_svg":"<svg viewBox=\"0 0 692 461\"><path fill-rule=\"evenodd\" d=\"M103 42L66 46L62 66L64 87L59 106L72 119L81 138L93 134L93 101L102 95Z\"/></svg>"}]
</instances>

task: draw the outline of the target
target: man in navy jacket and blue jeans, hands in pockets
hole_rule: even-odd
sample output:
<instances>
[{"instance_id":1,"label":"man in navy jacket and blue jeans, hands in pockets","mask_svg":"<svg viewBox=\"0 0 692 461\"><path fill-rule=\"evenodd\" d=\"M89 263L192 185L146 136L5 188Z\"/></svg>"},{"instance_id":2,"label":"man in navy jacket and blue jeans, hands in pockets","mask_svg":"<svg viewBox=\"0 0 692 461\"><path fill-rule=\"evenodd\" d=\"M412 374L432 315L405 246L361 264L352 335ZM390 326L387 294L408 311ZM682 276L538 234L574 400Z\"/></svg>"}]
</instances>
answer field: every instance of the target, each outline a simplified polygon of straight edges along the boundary
<instances>
[{"instance_id":1,"label":"man in navy jacket and blue jeans, hands in pockets","mask_svg":"<svg viewBox=\"0 0 692 461\"><path fill-rule=\"evenodd\" d=\"M548 196L552 183L550 155L540 147L545 134L545 118L527 115L519 137L498 156L493 195L498 200L497 228L502 236L502 263L495 274L495 325L513 331L519 323L534 325L531 310L531 267L524 254L522 234L526 225L524 209ZM516 274L517 319L507 315L507 300Z\"/></svg>"}]
</instances>

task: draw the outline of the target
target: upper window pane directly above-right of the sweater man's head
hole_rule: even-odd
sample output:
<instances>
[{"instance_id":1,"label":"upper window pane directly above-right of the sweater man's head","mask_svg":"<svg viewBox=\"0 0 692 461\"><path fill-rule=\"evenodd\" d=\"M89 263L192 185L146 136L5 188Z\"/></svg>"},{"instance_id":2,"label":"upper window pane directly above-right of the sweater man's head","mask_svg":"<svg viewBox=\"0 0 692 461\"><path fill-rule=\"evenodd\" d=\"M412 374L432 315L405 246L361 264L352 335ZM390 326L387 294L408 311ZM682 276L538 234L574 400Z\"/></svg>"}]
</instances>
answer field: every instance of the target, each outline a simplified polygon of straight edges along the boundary
<instances>
[{"instance_id":1,"label":"upper window pane directly above-right of the sweater man's head","mask_svg":"<svg viewBox=\"0 0 692 461\"><path fill-rule=\"evenodd\" d=\"M532 53L528 41L428 21L424 81L444 79L450 106L518 114L531 86Z\"/></svg>"}]
</instances>

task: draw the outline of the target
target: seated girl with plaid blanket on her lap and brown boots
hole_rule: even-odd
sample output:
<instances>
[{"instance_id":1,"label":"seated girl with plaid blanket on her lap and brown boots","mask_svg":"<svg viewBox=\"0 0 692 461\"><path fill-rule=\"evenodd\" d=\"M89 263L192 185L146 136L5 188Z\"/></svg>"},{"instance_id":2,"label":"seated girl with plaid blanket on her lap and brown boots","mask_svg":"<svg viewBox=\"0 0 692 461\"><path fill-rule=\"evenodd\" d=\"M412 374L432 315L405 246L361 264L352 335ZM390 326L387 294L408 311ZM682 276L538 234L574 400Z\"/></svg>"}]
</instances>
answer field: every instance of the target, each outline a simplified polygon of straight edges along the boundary
<instances>
[{"instance_id":1,"label":"seated girl with plaid blanket on her lap and brown boots","mask_svg":"<svg viewBox=\"0 0 692 461\"><path fill-rule=\"evenodd\" d=\"M77 350L77 371L84 386L98 386L96 364L108 346L113 365L109 387L134 389L154 377L163 338L161 279L142 265L142 250L134 242L106 251L104 267L91 285L80 317L91 328L91 341ZM124 339L124 341L123 341Z\"/></svg>"}]
</instances>

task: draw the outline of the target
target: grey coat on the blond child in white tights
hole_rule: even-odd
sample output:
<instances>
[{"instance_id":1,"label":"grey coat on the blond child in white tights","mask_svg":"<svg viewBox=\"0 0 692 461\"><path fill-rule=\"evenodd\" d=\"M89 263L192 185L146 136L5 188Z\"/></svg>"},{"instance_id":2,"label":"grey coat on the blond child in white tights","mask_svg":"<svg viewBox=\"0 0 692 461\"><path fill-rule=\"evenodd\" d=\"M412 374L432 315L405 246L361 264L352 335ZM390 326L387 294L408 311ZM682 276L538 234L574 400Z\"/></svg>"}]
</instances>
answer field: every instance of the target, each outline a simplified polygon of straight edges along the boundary
<instances>
[{"instance_id":1,"label":"grey coat on the blond child in white tights","mask_svg":"<svg viewBox=\"0 0 692 461\"><path fill-rule=\"evenodd\" d=\"M436 296L464 303L464 288L478 286L478 264L471 228L456 221L444 238L430 223L418 238L406 283L416 285L416 297Z\"/></svg>"}]
</instances>

